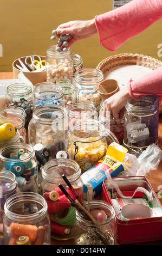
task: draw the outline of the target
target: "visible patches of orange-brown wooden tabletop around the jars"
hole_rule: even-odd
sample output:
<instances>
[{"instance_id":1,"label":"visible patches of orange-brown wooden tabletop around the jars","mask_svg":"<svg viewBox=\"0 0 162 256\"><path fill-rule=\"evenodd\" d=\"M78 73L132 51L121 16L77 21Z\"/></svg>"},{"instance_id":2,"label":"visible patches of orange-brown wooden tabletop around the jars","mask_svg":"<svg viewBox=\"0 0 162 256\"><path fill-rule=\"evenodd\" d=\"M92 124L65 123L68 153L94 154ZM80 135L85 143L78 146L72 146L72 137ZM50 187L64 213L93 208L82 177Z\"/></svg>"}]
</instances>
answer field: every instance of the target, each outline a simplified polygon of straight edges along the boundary
<instances>
[{"instance_id":1,"label":"visible patches of orange-brown wooden tabletop around the jars","mask_svg":"<svg viewBox=\"0 0 162 256\"><path fill-rule=\"evenodd\" d=\"M12 79L12 72L0 72L0 80ZM159 115L159 148L162 149L162 115ZM157 170L151 170L150 173L146 175L146 178L150 182L155 192L162 191L162 161L159 163ZM162 192L161 192L162 196ZM51 239L51 245L74 245L74 240L55 240ZM132 245L162 245L162 239L159 241L145 242L145 243L133 243Z\"/></svg>"}]
</instances>

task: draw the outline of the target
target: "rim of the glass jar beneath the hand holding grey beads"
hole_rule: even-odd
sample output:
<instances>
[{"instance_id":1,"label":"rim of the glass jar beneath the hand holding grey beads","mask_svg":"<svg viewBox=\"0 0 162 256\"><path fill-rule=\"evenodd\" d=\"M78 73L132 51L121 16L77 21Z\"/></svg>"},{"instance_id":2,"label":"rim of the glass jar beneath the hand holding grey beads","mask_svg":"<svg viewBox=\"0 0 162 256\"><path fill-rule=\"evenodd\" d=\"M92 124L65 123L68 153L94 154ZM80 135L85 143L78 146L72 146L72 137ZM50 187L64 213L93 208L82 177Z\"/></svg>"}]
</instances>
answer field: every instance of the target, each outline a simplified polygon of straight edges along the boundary
<instances>
[{"instance_id":1,"label":"rim of the glass jar beneath the hand holding grey beads","mask_svg":"<svg viewBox=\"0 0 162 256\"><path fill-rule=\"evenodd\" d=\"M66 58L67 56L69 56L72 53L71 48L67 48L66 52L57 52L56 51L56 45L51 45L47 48L47 57L54 57L57 59L62 59L62 58Z\"/></svg>"}]
</instances>

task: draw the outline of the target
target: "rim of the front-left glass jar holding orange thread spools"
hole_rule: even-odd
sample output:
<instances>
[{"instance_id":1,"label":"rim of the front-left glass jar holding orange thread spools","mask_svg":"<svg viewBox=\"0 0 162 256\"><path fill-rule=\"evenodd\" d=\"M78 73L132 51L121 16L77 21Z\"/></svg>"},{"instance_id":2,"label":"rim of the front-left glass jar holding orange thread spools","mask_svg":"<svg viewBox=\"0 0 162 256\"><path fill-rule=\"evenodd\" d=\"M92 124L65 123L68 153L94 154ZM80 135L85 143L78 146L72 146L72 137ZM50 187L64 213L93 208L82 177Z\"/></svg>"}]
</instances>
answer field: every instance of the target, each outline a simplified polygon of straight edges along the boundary
<instances>
[{"instance_id":1,"label":"rim of the front-left glass jar holding orange thread spools","mask_svg":"<svg viewBox=\"0 0 162 256\"><path fill-rule=\"evenodd\" d=\"M16 214L15 212L10 211L10 207L14 204L18 203L38 203L39 205L42 205L42 209L40 209L38 212L35 212L34 214L30 215L20 215ZM46 214L47 214L47 203L46 200L38 193L34 192L18 192L11 197L7 199L7 201L4 204L4 212L5 215L12 221L18 221L18 223L34 223L37 218L41 220Z\"/></svg>"}]
</instances>

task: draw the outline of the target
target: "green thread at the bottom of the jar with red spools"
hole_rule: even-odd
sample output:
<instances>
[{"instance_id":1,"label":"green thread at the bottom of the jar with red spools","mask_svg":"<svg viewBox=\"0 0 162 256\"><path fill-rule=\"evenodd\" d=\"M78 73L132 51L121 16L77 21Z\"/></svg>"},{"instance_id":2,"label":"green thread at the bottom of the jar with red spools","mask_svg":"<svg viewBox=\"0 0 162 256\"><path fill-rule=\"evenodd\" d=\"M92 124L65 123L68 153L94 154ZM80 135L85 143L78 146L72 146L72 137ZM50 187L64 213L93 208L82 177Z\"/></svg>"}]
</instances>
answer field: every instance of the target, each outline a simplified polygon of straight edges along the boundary
<instances>
[{"instance_id":1,"label":"green thread at the bottom of the jar with red spools","mask_svg":"<svg viewBox=\"0 0 162 256\"><path fill-rule=\"evenodd\" d=\"M65 216L66 215L66 216ZM64 217L62 217L64 216ZM73 207L57 212L57 214L51 215L52 220L60 225L74 225L76 212Z\"/></svg>"}]
</instances>

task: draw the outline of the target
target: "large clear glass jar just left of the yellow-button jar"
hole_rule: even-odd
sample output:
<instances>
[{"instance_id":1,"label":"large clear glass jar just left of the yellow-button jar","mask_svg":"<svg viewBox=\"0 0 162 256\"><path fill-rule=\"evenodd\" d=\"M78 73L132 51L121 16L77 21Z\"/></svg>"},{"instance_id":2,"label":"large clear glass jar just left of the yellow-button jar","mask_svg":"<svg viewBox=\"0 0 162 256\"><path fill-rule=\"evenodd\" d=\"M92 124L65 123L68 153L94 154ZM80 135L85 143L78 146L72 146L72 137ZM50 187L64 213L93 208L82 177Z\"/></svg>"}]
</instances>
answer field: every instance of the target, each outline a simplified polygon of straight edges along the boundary
<instances>
[{"instance_id":1,"label":"large clear glass jar just left of the yellow-button jar","mask_svg":"<svg viewBox=\"0 0 162 256\"><path fill-rule=\"evenodd\" d=\"M29 123L29 144L42 144L42 155L46 161L56 158L60 150L68 147L68 113L57 105L43 105L34 109Z\"/></svg>"}]
</instances>

